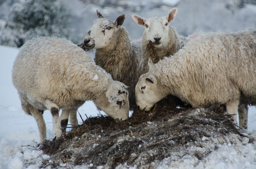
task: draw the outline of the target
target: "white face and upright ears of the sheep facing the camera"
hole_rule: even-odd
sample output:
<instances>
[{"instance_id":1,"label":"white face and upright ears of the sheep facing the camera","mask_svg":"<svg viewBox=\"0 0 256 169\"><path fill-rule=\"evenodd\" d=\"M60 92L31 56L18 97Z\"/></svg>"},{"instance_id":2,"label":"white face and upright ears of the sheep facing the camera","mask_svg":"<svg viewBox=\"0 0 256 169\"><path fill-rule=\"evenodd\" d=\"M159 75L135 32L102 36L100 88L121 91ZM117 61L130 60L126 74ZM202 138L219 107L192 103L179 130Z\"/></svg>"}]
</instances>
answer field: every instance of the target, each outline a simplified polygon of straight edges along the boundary
<instances>
[{"instance_id":1,"label":"white face and upright ears of the sheep facing the camera","mask_svg":"<svg viewBox=\"0 0 256 169\"><path fill-rule=\"evenodd\" d=\"M164 17L141 18L138 15L132 15L133 20L145 28L146 41L154 43L155 47L161 48L167 46L169 42L169 24L172 22L178 12L177 8L169 11Z\"/></svg>"}]
</instances>

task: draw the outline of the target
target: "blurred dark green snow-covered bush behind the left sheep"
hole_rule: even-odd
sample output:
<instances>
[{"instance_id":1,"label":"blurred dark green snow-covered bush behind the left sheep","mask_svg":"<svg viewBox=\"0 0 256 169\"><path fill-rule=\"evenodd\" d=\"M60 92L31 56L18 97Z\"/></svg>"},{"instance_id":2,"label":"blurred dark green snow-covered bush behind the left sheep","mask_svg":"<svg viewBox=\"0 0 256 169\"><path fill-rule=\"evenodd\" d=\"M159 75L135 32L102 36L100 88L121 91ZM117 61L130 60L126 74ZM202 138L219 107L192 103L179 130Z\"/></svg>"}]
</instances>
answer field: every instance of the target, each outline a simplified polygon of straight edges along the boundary
<instances>
[{"instance_id":1,"label":"blurred dark green snow-covered bush behind the left sheep","mask_svg":"<svg viewBox=\"0 0 256 169\"><path fill-rule=\"evenodd\" d=\"M0 44L20 47L33 37L68 38L70 15L58 0L20 0L0 30Z\"/></svg>"}]
</instances>

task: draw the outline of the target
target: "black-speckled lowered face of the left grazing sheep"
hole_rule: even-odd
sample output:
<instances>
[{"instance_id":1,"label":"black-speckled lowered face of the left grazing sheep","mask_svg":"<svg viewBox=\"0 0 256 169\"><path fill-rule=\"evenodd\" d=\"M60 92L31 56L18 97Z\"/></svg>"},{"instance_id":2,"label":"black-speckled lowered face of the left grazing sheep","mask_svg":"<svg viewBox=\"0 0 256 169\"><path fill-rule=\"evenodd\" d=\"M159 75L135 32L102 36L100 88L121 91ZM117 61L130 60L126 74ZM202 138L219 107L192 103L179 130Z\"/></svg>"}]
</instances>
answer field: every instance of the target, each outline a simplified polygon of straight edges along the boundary
<instances>
[{"instance_id":1,"label":"black-speckled lowered face of the left grazing sheep","mask_svg":"<svg viewBox=\"0 0 256 169\"><path fill-rule=\"evenodd\" d=\"M126 120L129 116L129 94L127 88L127 85L119 81L112 80L112 82L109 83L109 87L106 91L106 100L96 102L96 105L101 110L103 110L117 122Z\"/></svg>"}]
</instances>

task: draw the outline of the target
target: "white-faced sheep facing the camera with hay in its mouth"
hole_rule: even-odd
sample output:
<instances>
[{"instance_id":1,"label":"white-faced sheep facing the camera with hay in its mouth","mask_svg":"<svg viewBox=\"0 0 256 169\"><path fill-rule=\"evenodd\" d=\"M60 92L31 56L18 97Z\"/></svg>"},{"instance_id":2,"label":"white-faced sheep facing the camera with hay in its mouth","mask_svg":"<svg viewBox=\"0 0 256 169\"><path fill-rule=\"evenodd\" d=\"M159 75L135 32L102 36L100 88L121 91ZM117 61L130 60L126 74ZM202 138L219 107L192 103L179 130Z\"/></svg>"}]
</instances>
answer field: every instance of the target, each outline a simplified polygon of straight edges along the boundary
<instances>
[{"instance_id":1,"label":"white-faced sheep facing the camera with hay in its mouth","mask_svg":"<svg viewBox=\"0 0 256 169\"><path fill-rule=\"evenodd\" d=\"M140 63L143 73L148 72L148 59L152 55L148 50L148 44L154 44L154 54L162 59L173 55L189 41L189 38L178 35L175 28L170 26L170 22L175 18L177 12L178 9L173 8L167 16L155 16L148 19L132 15L133 20L145 28L142 35L142 60Z\"/></svg>"}]
</instances>

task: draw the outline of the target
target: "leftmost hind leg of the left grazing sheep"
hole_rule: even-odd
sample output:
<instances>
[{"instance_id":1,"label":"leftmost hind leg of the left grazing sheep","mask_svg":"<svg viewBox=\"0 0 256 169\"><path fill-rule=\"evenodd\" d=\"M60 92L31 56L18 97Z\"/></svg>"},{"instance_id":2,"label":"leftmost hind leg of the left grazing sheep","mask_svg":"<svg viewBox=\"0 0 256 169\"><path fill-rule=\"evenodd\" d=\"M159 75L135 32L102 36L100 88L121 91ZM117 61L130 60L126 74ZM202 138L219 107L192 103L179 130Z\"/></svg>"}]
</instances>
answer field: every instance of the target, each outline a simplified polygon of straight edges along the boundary
<instances>
[{"instance_id":1,"label":"leftmost hind leg of the left grazing sheep","mask_svg":"<svg viewBox=\"0 0 256 169\"><path fill-rule=\"evenodd\" d=\"M44 111L37 110L24 97L20 96L20 101L22 109L26 112L26 114L32 115L37 122L40 142L43 142L46 139L46 125L43 117Z\"/></svg>"}]
</instances>

